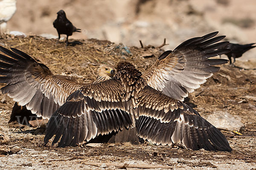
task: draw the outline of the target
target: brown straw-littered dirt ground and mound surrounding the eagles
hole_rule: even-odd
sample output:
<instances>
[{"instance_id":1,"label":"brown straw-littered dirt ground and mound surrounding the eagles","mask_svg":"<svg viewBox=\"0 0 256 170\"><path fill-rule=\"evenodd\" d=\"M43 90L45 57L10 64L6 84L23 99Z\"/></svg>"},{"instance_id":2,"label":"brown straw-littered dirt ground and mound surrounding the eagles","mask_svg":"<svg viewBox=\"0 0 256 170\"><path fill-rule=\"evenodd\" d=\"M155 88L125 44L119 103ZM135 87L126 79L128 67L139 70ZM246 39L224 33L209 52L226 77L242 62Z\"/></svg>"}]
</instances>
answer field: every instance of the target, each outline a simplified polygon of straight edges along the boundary
<instances>
[{"instance_id":1,"label":"brown straw-littered dirt ground and mound surrounding the eagles","mask_svg":"<svg viewBox=\"0 0 256 170\"><path fill-rule=\"evenodd\" d=\"M163 52L153 46L127 47L96 39L79 41L83 44L65 47L64 42L56 44L57 40L5 35L0 38L0 45L26 52L55 74L79 75L81 82L92 82L100 64L115 66L120 60L128 60L145 72ZM222 131L233 149L230 153L171 148L145 141L139 145L44 146L44 127L7 123L14 102L7 95L0 94L0 131L10 138L9 143L0 147L11 150L0 155L0 169L256 170L256 71L253 69L256 62L237 61L235 64L246 69L223 65L221 71L189 95L189 102L203 117L214 111L225 111L241 118L245 125L242 135Z\"/></svg>"}]
</instances>

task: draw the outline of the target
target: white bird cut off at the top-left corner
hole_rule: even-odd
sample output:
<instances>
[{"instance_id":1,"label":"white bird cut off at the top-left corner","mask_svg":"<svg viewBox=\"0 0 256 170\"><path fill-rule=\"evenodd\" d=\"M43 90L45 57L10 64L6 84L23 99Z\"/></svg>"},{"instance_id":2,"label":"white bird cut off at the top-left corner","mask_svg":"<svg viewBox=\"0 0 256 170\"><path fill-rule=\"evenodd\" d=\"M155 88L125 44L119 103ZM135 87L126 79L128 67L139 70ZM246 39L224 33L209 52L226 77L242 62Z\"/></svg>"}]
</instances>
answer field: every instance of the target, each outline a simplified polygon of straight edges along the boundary
<instances>
[{"instance_id":1,"label":"white bird cut off at the top-left corner","mask_svg":"<svg viewBox=\"0 0 256 170\"><path fill-rule=\"evenodd\" d=\"M7 21L16 12L17 0L0 0L0 34L6 31Z\"/></svg>"}]
</instances>

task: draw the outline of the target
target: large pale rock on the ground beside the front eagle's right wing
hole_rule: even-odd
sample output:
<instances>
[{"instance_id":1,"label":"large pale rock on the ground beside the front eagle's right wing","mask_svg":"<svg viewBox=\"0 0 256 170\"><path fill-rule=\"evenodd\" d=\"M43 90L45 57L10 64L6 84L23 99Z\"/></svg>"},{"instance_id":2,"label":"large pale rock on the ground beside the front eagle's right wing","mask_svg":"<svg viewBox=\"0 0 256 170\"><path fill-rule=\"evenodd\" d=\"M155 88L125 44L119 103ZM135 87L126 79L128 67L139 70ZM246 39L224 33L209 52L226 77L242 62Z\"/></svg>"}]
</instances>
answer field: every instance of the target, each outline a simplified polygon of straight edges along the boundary
<instances>
[{"instance_id":1,"label":"large pale rock on the ground beside the front eagle's right wing","mask_svg":"<svg viewBox=\"0 0 256 170\"><path fill-rule=\"evenodd\" d=\"M236 116L236 118L227 112L215 111L209 115L206 120L218 129L224 130L237 130L240 133L244 132L244 124L240 121L241 118Z\"/></svg>"}]
</instances>

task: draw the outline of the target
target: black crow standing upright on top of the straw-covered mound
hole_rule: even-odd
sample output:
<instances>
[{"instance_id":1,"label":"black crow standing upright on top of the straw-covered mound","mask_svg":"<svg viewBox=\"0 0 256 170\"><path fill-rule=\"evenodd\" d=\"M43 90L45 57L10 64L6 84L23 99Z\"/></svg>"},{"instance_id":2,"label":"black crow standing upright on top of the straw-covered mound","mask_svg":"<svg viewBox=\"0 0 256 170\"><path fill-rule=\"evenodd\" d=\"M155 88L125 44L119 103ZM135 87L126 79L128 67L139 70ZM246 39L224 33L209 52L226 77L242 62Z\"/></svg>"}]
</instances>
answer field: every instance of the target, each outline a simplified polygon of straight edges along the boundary
<instances>
[{"instance_id":1,"label":"black crow standing upright on top of the straw-covered mound","mask_svg":"<svg viewBox=\"0 0 256 170\"><path fill-rule=\"evenodd\" d=\"M73 32L81 32L81 29L76 28L73 24L67 19L66 13L63 10L57 12L57 19L53 22L54 28L58 31L58 39L60 40L61 34L67 35L67 45L68 45L68 36L72 35Z\"/></svg>"}]
</instances>

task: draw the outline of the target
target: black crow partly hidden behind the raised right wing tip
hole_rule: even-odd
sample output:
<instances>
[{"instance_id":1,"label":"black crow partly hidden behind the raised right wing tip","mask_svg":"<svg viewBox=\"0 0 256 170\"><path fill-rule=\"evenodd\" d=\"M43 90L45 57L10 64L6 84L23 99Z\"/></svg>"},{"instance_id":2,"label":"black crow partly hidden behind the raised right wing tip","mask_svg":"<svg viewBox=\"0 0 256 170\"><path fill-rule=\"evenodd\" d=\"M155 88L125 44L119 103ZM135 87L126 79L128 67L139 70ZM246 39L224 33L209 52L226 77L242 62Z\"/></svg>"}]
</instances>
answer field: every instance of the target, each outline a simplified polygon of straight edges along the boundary
<instances>
[{"instance_id":1,"label":"black crow partly hidden behind the raised right wing tip","mask_svg":"<svg viewBox=\"0 0 256 170\"><path fill-rule=\"evenodd\" d=\"M236 58L241 57L246 51L250 50L251 48L256 47L254 44L255 43L241 45L241 44L229 43L228 45L223 47L225 49L231 50L230 52L225 54L225 55L227 55L228 59L230 60L230 65L232 64L231 57L233 57L234 62L236 62ZM252 46L252 45L254 45L254 46Z\"/></svg>"}]
</instances>

